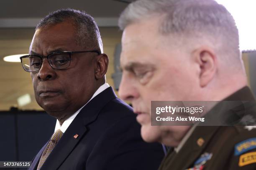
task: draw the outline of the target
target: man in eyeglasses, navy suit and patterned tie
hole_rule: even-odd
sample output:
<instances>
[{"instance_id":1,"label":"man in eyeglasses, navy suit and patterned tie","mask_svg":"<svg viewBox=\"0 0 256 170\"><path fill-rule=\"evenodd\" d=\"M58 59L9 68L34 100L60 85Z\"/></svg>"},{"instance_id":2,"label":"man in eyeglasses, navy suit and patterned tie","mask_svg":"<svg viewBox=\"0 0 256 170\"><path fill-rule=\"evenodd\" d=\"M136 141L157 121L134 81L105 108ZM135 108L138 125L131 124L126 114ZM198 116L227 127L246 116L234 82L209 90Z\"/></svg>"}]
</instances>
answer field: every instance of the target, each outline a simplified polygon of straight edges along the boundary
<instances>
[{"instance_id":1,"label":"man in eyeglasses, navy suit and patterned tie","mask_svg":"<svg viewBox=\"0 0 256 170\"><path fill-rule=\"evenodd\" d=\"M161 145L143 142L132 108L105 83L108 56L90 15L72 9L49 14L36 27L29 55L20 58L31 72L36 101L57 119L30 170L159 166Z\"/></svg>"}]
</instances>

